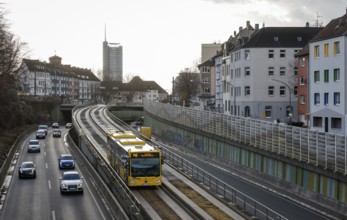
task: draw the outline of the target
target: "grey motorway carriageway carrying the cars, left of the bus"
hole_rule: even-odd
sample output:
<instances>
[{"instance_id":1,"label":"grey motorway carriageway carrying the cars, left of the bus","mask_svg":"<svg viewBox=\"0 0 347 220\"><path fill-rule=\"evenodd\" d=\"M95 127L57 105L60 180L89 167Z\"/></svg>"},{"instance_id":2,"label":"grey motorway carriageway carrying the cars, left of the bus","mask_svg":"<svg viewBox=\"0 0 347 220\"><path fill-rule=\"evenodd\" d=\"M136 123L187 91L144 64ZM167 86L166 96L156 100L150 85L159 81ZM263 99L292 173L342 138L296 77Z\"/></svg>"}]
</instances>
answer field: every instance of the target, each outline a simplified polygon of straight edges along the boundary
<instances>
[{"instance_id":1,"label":"grey motorway carriageway carrying the cars, left of the bus","mask_svg":"<svg viewBox=\"0 0 347 220\"><path fill-rule=\"evenodd\" d=\"M69 152L63 141L64 134L65 129L62 138L53 138L50 129L47 138L40 140L40 153L28 153L27 141L22 143L17 164L33 160L37 165L37 177L19 179L18 168L14 169L0 219L112 219L78 161L76 169L85 178L84 194L61 195L59 177L63 170L58 167L58 157ZM35 139L35 135L29 138Z\"/></svg>"}]
</instances>

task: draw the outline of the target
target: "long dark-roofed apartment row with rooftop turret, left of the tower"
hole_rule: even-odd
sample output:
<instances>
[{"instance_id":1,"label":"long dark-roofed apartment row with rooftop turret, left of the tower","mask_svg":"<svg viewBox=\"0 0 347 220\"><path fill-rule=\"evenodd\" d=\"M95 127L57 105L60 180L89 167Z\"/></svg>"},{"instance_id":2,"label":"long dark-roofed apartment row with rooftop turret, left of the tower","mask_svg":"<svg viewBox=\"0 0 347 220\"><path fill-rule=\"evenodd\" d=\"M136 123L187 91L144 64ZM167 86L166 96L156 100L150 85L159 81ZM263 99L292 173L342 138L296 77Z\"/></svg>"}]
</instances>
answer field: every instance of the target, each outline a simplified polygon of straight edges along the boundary
<instances>
[{"instance_id":1,"label":"long dark-roofed apartment row with rooftop turret, left of the tower","mask_svg":"<svg viewBox=\"0 0 347 220\"><path fill-rule=\"evenodd\" d=\"M63 65L62 58L52 56L49 63L23 59L18 69L21 94L59 96L70 103L96 101L100 80L90 69Z\"/></svg>"}]
</instances>

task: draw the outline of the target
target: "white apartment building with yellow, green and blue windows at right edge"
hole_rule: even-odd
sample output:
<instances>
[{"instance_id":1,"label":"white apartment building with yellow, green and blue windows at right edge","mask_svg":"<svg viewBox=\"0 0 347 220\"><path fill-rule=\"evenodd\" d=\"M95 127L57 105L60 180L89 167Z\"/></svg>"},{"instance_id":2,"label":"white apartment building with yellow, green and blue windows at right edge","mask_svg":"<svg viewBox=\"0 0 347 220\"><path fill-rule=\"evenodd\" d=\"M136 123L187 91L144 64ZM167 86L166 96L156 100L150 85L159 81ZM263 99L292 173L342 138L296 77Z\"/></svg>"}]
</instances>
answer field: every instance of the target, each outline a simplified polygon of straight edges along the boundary
<instances>
[{"instance_id":1,"label":"white apartment building with yellow, green and blue windows at right edge","mask_svg":"<svg viewBox=\"0 0 347 220\"><path fill-rule=\"evenodd\" d=\"M347 14L333 19L309 44L310 127L322 132L346 130Z\"/></svg>"}]
</instances>

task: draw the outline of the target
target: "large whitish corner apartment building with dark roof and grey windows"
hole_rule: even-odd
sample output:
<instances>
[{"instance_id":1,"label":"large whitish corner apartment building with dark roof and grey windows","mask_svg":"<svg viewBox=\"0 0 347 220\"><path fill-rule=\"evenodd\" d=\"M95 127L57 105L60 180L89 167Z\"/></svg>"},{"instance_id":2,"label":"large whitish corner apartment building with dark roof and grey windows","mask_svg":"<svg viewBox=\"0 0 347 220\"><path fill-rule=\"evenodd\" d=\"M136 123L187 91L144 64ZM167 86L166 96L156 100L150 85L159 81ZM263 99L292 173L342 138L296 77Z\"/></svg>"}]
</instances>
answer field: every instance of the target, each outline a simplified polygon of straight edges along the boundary
<instances>
[{"instance_id":1,"label":"large whitish corner apartment building with dark roof and grey windows","mask_svg":"<svg viewBox=\"0 0 347 220\"><path fill-rule=\"evenodd\" d=\"M236 35L224 57L224 113L266 121L297 121L295 54L321 30L308 25L261 29L256 25L248 34Z\"/></svg>"}]
</instances>

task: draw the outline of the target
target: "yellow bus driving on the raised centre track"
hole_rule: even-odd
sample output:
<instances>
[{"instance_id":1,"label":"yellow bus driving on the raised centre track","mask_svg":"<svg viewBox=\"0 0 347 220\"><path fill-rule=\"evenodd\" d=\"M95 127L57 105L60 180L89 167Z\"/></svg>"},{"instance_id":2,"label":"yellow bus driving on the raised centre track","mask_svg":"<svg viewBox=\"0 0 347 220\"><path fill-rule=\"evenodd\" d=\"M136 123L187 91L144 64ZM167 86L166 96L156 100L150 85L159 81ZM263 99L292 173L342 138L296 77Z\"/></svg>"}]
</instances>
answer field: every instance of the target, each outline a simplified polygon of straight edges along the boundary
<instances>
[{"instance_id":1,"label":"yellow bus driving on the raised centre track","mask_svg":"<svg viewBox=\"0 0 347 220\"><path fill-rule=\"evenodd\" d=\"M129 187L162 184L162 153L131 131L110 130L107 159Z\"/></svg>"}]
</instances>

